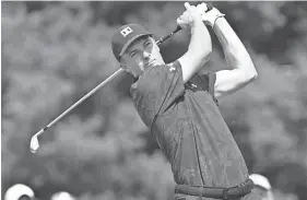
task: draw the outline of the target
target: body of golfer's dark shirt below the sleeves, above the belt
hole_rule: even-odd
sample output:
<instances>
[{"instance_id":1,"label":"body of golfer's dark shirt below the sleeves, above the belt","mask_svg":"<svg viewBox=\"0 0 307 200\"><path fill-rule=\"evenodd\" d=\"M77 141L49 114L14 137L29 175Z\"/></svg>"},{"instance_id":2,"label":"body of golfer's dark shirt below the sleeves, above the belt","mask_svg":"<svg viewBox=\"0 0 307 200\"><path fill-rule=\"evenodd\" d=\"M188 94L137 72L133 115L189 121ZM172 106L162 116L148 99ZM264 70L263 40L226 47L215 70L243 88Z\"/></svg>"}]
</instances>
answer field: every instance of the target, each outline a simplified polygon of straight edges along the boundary
<instances>
[{"instance_id":1,"label":"body of golfer's dark shirt below the sleeves, above the belt","mask_svg":"<svg viewBox=\"0 0 307 200\"><path fill-rule=\"evenodd\" d=\"M244 181L247 167L215 102L206 91L187 86L153 133L172 164L177 184L229 187Z\"/></svg>"}]
</instances>

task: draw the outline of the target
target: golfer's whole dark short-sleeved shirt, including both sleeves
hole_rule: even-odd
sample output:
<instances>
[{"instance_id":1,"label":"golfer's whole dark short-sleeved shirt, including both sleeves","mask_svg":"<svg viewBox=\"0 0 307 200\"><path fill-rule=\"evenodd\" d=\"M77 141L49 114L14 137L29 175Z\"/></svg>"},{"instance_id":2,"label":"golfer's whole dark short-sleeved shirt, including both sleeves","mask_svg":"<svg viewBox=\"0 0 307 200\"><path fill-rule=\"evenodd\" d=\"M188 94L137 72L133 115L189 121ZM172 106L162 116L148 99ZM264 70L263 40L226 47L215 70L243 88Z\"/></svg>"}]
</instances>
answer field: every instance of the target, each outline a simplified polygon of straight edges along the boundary
<instances>
[{"instance_id":1,"label":"golfer's whole dark short-sleeved shirt, including both sleeves","mask_svg":"<svg viewBox=\"0 0 307 200\"><path fill-rule=\"evenodd\" d=\"M170 162L177 184L240 184L248 170L209 93L210 77L194 78L184 84L178 61L147 69L131 86L138 113Z\"/></svg>"}]
</instances>

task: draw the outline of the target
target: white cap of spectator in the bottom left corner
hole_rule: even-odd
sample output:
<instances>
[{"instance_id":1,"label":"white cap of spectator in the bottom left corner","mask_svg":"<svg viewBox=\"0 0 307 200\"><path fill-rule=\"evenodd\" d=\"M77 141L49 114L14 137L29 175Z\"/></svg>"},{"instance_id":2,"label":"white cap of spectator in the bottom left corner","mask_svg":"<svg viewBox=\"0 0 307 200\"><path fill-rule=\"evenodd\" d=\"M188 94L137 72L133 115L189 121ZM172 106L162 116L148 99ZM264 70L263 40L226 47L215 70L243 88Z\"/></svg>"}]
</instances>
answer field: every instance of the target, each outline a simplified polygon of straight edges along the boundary
<instances>
[{"instance_id":1,"label":"white cap of spectator in the bottom left corner","mask_svg":"<svg viewBox=\"0 0 307 200\"><path fill-rule=\"evenodd\" d=\"M16 184L7 190L4 200L17 200L22 196L34 198L34 191L26 185Z\"/></svg>"}]
</instances>

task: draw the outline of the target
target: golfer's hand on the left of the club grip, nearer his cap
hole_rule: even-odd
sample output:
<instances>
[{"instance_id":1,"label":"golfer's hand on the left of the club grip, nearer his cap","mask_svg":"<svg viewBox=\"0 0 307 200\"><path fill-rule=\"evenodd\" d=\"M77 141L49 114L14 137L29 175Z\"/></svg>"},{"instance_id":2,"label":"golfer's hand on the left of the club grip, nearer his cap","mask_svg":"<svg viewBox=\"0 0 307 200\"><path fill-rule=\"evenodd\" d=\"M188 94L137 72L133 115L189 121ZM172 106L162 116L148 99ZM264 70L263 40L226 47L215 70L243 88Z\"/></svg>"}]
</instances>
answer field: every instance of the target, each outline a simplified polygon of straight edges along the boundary
<instances>
[{"instance_id":1,"label":"golfer's hand on the left of the club grip, nearer his cap","mask_svg":"<svg viewBox=\"0 0 307 200\"><path fill-rule=\"evenodd\" d=\"M201 12L188 2L185 3L186 11L177 19L177 24L182 30L189 30L197 23L202 22Z\"/></svg>"}]
</instances>

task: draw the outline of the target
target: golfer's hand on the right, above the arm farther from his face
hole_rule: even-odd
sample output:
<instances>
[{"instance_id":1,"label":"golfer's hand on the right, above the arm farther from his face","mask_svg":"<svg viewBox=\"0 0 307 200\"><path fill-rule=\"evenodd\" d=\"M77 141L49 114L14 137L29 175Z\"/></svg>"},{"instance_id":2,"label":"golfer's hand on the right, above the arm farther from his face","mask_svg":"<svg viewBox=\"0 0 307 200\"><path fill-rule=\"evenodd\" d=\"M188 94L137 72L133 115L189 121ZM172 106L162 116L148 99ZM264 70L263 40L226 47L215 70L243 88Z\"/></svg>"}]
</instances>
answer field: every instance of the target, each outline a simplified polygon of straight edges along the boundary
<instances>
[{"instance_id":1,"label":"golfer's hand on the right, above the arm farther from his face","mask_svg":"<svg viewBox=\"0 0 307 200\"><path fill-rule=\"evenodd\" d=\"M225 14L221 13L214 7L212 8L212 10L208 11L206 3L198 4L197 10L201 13L203 23L205 23L206 25L210 25L211 27L214 26L214 23L219 17L222 17L225 15Z\"/></svg>"}]
</instances>

